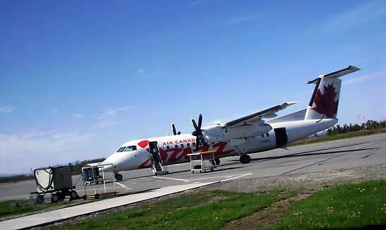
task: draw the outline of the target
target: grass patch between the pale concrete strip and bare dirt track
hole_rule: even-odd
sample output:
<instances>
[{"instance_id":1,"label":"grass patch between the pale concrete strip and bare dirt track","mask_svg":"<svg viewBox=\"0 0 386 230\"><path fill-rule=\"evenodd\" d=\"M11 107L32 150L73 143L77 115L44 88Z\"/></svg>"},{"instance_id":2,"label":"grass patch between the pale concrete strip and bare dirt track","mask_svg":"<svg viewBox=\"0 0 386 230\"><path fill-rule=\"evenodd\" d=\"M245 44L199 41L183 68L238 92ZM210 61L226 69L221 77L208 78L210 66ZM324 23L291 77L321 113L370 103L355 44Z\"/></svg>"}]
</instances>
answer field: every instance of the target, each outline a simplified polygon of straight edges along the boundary
<instances>
[{"instance_id":1,"label":"grass patch between the pale concrete strip and bare dirt track","mask_svg":"<svg viewBox=\"0 0 386 230\"><path fill-rule=\"evenodd\" d=\"M279 200L279 194L282 194L279 190L259 194L200 191L76 224L44 229L218 229L231 220L269 206Z\"/></svg>"}]
</instances>

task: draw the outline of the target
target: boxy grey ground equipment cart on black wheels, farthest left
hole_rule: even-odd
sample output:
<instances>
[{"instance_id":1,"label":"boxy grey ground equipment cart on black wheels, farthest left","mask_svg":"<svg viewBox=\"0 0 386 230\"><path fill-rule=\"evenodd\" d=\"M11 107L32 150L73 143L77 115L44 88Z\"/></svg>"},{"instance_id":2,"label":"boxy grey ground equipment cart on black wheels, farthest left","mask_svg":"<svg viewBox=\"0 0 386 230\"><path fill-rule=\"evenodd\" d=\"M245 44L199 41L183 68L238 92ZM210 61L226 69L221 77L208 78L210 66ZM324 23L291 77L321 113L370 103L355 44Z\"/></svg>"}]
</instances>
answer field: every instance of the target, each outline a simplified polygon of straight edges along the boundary
<instances>
[{"instance_id":1,"label":"boxy grey ground equipment cart on black wheels, farthest left","mask_svg":"<svg viewBox=\"0 0 386 230\"><path fill-rule=\"evenodd\" d=\"M71 199L78 197L75 186L71 178L71 169L69 166L48 167L34 170L37 192L36 202L41 204L44 202L44 195L51 193L51 202L55 203L59 200L64 200L66 195Z\"/></svg>"}]
</instances>

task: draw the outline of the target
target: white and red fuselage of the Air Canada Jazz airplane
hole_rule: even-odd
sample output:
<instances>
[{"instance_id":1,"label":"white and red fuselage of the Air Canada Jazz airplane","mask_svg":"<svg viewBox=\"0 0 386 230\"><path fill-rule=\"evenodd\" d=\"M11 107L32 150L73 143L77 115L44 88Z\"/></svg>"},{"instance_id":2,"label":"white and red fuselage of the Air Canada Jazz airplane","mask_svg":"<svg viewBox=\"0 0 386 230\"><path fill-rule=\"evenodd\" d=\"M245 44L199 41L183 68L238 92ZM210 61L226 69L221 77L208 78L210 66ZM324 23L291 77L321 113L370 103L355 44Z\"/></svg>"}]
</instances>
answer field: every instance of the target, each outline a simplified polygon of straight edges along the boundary
<instances>
[{"instance_id":1,"label":"white and red fuselage of the Air Canada Jazz airplane","mask_svg":"<svg viewBox=\"0 0 386 230\"><path fill-rule=\"evenodd\" d=\"M287 145L287 143L292 143L313 133L318 133L318 131L325 130L335 123L337 123L337 119L271 123L271 131L264 135L243 138L242 144L236 147L243 154L272 150L282 147L283 144ZM195 138L191 134L183 134L132 140L121 145L119 150L108 157L105 162L113 163L116 172L150 167L152 162L150 160L149 146L147 145L150 141L157 141L163 165L188 162L190 161L188 154L192 152L215 150L216 158L240 155L240 151L236 151L234 146L230 145L230 141L207 143L205 147L200 145L196 151L193 146L195 145ZM286 138L285 143L281 143Z\"/></svg>"}]
</instances>

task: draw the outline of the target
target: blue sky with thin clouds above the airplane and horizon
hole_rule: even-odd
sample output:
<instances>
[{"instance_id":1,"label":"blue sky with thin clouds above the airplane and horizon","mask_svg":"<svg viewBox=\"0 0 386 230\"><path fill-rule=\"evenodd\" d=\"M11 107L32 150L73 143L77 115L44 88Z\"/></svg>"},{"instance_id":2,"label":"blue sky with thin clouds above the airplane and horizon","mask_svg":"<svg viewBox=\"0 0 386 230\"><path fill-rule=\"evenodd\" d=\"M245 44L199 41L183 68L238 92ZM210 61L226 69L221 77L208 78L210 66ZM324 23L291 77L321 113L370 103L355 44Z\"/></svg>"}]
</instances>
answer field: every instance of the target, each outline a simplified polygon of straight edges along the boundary
<instances>
[{"instance_id":1,"label":"blue sky with thin clouds above the airplane and horizon","mask_svg":"<svg viewBox=\"0 0 386 230\"><path fill-rule=\"evenodd\" d=\"M339 124L386 119L385 21L386 1L0 1L0 173L297 111L349 65Z\"/></svg>"}]
</instances>

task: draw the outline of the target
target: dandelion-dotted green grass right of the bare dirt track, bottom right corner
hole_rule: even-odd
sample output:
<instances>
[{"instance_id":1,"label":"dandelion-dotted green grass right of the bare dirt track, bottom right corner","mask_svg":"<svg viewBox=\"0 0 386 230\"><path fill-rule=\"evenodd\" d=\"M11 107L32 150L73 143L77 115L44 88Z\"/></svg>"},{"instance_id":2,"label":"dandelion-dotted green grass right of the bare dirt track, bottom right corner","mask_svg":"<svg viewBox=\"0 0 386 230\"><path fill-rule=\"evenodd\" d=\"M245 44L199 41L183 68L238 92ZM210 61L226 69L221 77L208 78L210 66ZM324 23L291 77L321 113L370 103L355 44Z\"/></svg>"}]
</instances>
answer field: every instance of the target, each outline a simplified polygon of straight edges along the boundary
<instances>
[{"instance_id":1,"label":"dandelion-dotted green grass right of the bare dirt track, bottom right corner","mask_svg":"<svg viewBox=\"0 0 386 230\"><path fill-rule=\"evenodd\" d=\"M386 224L386 181L327 188L295 202L282 222L266 229L350 229Z\"/></svg>"}]
</instances>

